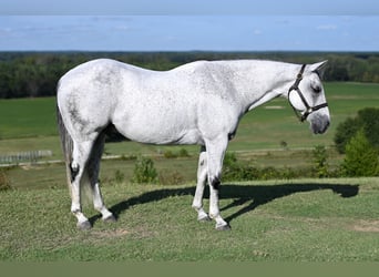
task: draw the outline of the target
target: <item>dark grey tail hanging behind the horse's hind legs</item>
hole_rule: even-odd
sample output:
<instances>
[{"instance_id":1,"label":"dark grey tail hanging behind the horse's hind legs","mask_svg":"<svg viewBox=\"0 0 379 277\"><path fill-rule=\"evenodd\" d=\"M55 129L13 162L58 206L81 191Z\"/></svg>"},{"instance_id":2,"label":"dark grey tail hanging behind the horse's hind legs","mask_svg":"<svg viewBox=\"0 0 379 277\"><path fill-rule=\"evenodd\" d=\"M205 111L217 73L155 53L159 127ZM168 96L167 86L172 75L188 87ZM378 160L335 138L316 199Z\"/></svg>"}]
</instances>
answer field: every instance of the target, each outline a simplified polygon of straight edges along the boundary
<instances>
[{"instance_id":1,"label":"dark grey tail hanging behind the horse's hind legs","mask_svg":"<svg viewBox=\"0 0 379 277\"><path fill-rule=\"evenodd\" d=\"M63 119L61 111L59 110L59 106L57 104L57 121L58 121L58 130L59 130L59 135L61 137L61 147L63 151L63 157L64 157L64 163L65 163L65 173L68 177L68 186L69 191L71 193L71 182L74 178L71 170L71 162L72 162L72 152L73 152L73 141L71 135L69 134Z\"/></svg>"}]
</instances>

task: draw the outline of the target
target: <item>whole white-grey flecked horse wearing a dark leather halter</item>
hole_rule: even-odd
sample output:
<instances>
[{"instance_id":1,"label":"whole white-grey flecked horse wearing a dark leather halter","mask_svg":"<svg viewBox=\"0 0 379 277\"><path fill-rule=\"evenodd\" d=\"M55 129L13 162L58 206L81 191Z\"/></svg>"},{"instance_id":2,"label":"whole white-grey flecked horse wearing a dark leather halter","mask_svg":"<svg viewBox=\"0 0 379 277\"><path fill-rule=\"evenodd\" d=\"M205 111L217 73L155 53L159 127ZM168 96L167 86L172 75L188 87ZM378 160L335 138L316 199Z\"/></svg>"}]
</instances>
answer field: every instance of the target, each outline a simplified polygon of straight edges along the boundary
<instances>
[{"instance_id":1,"label":"whole white-grey flecked horse wearing a dark leather halter","mask_svg":"<svg viewBox=\"0 0 379 277\"><path fill-rule=\"evenodd\" d=\"M100 59L78 65L58 84L58 120L71 191L71 212L79 228L90 228L82 213L81 186L89 186L94 208L115 220L99 184L105 130L150 144L197 144L201 154L192 206L198 220L214 219L229 229L219 213L218 192L224 154L248 111L284 96L315 134L330 116L320 81L326 62L291 64L259 60L196 61L170 71L152 71ZM209 213L203 208L209 184Z\"/></svg>"}]
</instances>

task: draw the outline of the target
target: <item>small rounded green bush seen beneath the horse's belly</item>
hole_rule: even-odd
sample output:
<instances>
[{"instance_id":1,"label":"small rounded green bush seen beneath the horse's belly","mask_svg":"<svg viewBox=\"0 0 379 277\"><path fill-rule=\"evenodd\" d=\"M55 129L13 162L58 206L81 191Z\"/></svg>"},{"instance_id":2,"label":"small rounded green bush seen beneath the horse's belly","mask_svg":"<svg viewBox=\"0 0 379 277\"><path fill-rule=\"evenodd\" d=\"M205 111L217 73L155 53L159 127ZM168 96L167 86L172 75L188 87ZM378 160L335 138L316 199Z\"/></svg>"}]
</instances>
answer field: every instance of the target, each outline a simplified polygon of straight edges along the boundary
<instances>
[{"instance_id":1,"label":"small rounded green bush seen beneath the horse's belly","mask_svg":"<svg viewBox=\"0 0 379 277\"><path fill-rule=\"evenodd\" d=\"M154 162L150 157L139 157L133 172L133 183L153 183L156 181L157 172Z\"/></svg>"}]
</instances>

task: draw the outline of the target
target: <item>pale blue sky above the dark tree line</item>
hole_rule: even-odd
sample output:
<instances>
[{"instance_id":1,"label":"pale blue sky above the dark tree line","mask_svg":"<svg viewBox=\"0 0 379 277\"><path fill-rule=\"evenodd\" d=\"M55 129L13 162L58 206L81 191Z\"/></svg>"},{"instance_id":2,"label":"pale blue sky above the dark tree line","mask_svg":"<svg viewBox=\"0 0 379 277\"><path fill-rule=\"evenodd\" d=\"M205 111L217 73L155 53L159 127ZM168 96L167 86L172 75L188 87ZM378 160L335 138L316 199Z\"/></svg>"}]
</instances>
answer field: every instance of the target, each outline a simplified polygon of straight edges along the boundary
<instances>
[{"instance_id":1,"label":"pale blue sky above the dark tree line","mask_svg":"<svg viewBox=\"0 0 379 277\"><path fill-rule=\"evenodd\" d=\"M0 3L0 51L379 51L378 0L51 2Z\"/></svg>"}]
</instances>

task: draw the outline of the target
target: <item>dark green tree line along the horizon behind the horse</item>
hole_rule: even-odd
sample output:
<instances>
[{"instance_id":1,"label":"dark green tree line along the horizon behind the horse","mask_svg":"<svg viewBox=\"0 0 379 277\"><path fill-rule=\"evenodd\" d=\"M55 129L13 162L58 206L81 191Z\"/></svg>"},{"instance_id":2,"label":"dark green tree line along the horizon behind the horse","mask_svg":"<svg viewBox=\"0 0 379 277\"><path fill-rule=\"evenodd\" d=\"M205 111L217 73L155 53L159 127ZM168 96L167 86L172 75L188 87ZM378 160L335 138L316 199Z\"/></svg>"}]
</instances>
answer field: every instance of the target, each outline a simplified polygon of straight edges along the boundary
<instances>
[{"instance_id":1,"label":"dark green tree line along the horizon behind the horse","mask_svg":"<svg viewBox=\"0 0 379 277\"><path fill-rule=\"evenodd\" d=\"M75 65L110 58L170 70L196 60L267 59L294 63L328 60L325 81L379 83L379 52L0 52L0 99L55 95L59 79Z\"/></svg>"}]
</instances>

